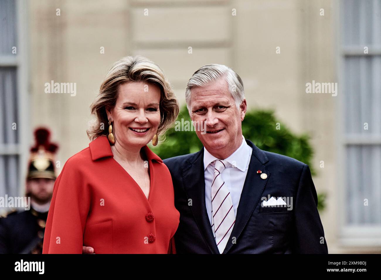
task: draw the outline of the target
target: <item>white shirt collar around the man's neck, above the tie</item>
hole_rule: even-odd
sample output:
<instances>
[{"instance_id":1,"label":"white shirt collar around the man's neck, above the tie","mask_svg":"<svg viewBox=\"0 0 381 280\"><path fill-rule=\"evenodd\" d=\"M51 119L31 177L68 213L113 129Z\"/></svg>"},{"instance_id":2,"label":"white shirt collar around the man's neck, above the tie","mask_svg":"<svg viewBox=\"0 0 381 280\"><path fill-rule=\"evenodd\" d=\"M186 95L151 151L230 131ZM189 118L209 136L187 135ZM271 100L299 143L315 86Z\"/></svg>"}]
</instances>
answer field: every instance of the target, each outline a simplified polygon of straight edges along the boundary
<instances>
[{"instance_id":1,"label":"white shirt collar around the man's neck, above the tie","mask_svg":"<svg viewBox=\"0 0 381 280\"><path fill-rule=\"evenodd\" d=\"M232 153L224 160L229 162L231 165L234 165L239 170L245 172L251 156L251 150L251 147L247 145L245 137L242 135L241 146L239 146L239 148L235 150L234 153ZM204 170L207 169L208 165L216 159L218 158L209 153L208 150L204 147Z\"/></svg>"}]
</instances>

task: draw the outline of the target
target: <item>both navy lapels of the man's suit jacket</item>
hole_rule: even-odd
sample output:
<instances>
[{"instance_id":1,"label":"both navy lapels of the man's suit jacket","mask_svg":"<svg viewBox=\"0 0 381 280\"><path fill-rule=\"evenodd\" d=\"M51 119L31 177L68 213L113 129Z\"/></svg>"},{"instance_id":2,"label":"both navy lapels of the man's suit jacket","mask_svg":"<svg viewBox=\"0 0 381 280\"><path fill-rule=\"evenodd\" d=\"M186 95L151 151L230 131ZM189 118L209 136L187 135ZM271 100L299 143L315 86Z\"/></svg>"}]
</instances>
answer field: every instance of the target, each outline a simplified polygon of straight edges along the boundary
<instances>
[{"instance_id":1,"label":"both navy lapels of the man's suit jacket","mask_svg":"<svg viewBox=\"0 0 381 280\"><path fill-rule=\"evenodd\" d=\"M253 149L253 152L251 154L249 169L237 208L235 224L229 240L232 240L232 237L235 237L236 239L239 238L243 228L245 228L250 216L253 214L253 211L258 204L261 194L271 174L264 165L267 161L269 161L264 151L255 146L250 140L245 140L247 145ZM218 247L211 230L207 209L205 207L205 177L203 168L204 149L205 148L202 148L199 152L192 154L192 156L188 159L188 164L186 164L182 170L182 178L187 197L193 198L192 212L202 236L205 239L210 251L212 253L219 254ZM261 179L259 174L256 173L257 170L267 173L267 178L265 180ZM231 249L232 245L232 242L227 242L223 253L227 253Z\"/></svg>"}]
</instances>

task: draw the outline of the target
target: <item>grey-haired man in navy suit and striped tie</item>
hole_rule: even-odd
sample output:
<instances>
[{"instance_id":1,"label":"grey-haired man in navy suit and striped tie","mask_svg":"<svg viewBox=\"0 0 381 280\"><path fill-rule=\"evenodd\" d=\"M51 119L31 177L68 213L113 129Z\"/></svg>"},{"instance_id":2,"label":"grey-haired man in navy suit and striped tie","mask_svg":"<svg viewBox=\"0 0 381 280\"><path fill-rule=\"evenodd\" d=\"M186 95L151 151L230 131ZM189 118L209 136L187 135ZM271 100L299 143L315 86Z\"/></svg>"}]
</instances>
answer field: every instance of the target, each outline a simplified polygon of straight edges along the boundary
<instances>
[{"instance_id":1,"label":"grey-haired man in navy suit and striped tie","mask_svg":"<svg viewBox=\"0 0 381 280\"><path fill-rule=\"evenodd\" d=\"M177 253L328 253L308 165L262 151L242 135L239 75L210 64L189 80L186 102L203 148L163 162L180 212ZM205 126L203 126L205 127Z\"/></svg>"}]
</instances>

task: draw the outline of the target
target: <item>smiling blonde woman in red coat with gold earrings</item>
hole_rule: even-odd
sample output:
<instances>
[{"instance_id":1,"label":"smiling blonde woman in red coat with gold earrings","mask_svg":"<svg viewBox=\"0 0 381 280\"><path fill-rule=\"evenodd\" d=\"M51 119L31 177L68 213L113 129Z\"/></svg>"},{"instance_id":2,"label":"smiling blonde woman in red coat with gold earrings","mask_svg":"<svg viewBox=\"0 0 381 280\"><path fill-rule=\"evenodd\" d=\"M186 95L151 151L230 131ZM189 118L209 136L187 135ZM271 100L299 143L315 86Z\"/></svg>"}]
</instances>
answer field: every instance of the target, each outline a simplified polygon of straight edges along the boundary
<instances>
[{"instance_id":1,"label":"smiling blonde woman in red coat with gold earrings","mask_svg":"<svg viewBox=\"0 0 381 280\"><path fill-rule=\"evenodd\" d=\"M142 56L117 61L91 104L89 146L54 184L43 253L173 253L179 224L170 172L147 144L179 105L163 71Z\"/></svg>"}]
</instances>

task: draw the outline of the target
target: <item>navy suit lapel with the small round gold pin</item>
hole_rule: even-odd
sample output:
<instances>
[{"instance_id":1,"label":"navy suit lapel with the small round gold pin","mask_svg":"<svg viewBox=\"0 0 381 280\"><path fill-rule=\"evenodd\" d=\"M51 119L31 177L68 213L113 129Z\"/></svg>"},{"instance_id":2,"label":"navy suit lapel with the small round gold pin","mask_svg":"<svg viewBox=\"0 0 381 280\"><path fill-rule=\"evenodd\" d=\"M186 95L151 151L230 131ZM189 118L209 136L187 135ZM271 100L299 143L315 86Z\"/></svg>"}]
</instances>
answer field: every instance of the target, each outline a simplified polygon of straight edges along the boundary
<instances>
[{"instance_id":1,"label":"navy suit lapel with the small round gold pin","mask_svg":"<svg viewBox=\"0 0 381 280\"><path fill-rule=\"evenodd\" d=\"M271 174L270 171L263 165L268 161L266 154L257 146L255 146L251 141L246 140L246 142L251 148L253 148L253 152L251 153L249 168L247 170L245 183L243 185L239 205L237 208L237 215L235 217L233 231L229 237L229 241L227 242L223 253L227 253L233 246L233 237L235 237L235 240L238 240L243 228L245 228L248 220L250 219L250 216L258 204L261 194L263 193L263 190ZM265 180L262 179L260 174L257 173L257 170L261 170L262 173L266 173L267 178Z\"/></svg>"}]
</instances>

